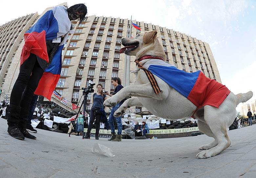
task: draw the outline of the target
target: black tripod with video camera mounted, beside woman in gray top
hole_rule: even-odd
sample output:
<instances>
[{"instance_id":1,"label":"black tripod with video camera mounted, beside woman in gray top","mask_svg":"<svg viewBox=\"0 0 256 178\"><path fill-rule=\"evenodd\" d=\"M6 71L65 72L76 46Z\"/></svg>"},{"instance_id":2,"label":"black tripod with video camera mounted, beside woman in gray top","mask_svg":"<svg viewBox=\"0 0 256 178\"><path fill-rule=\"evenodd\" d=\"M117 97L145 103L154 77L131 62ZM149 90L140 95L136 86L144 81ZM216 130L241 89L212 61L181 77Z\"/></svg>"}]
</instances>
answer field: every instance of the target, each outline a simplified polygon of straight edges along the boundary
<instances>
[{"instance_id":1,"label":"black tripod with video camera mounted, beside woman in gray top","mask_svg":"<svg viewBox=\"0 0 256 178\"><path fill-rule=\"evenodd\" d=\"M84 99L83 99L83 101L82 101L82 103L80 105L80 108L79 108L76 116L75 116L75 121L77 120L77 117L78 117L79 112L80 112L80 110L82 108L82 105L83 105L83 119L86 120L86 123L88 124L87 98L88 98L88 94L89 93L93 93L94 92L94 89L93 89L94 85L95 85L95 83L93 83L93 84L89 83L89 86L87 86L85 88L82 88ZM74 123L75 123L75 121L74 121ZM76 122L76 124L77 124L77 122ZM72 131L73 128L74 128L74 124L72 125L71 131ZM69 133L69 137L70 137L70 134L71 134L71 132ZM83 129L83 137L82 137L82 139L84 139L84 129Z\"/></svg>"}]
</instances>

